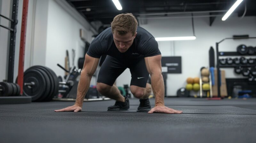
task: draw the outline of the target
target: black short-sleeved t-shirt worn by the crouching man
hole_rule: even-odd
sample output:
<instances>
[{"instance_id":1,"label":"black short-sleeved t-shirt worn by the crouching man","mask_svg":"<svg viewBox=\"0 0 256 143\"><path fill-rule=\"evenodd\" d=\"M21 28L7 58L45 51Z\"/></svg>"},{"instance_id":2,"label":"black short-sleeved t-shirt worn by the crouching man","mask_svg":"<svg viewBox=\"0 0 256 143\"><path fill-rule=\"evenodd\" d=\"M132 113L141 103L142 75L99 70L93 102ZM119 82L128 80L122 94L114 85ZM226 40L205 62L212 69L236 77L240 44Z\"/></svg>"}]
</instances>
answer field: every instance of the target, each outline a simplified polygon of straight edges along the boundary
<instances>
[{"instance_id":1,"label":"black short-sleeved t-shirt worn by the crouching man","mask_svg":"<svg viewBox=\"0 0 256 143\"><path fill-rule=\"evenodd\" d=\"M138 26L137 36L132 46L126 52L121 53L118 51L114 43L111 27L109 27L92 40L87 54L94 58L100 58L101 55L109 55L120 61L133 61L144 57L160 55L161 52L153 35Z\"/></svg>"}]
</instances>

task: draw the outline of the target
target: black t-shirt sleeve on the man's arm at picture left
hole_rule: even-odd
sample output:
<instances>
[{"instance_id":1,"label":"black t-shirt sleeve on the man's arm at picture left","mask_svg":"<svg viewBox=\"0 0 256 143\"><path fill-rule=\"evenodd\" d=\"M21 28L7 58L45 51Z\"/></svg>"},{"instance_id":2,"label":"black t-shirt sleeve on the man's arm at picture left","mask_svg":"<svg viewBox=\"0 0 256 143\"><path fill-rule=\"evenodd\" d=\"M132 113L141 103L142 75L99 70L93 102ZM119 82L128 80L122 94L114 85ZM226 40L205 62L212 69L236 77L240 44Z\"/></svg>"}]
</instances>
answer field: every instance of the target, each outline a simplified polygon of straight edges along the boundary
<instances>
[{"instance_id":1,"label":"black t-shirt sleeve on the man's arm at picture left","mask_svg":"<svg viewBox=\"0 0 256 143\"><path fill-rule=\"evenodd\" d=\"M100 58L101 55L103 55L103 48L100 44L100 41L98 39L94 39L87 51L87 55L94 57L94 58Z\"/></svg>"}]
</instances>

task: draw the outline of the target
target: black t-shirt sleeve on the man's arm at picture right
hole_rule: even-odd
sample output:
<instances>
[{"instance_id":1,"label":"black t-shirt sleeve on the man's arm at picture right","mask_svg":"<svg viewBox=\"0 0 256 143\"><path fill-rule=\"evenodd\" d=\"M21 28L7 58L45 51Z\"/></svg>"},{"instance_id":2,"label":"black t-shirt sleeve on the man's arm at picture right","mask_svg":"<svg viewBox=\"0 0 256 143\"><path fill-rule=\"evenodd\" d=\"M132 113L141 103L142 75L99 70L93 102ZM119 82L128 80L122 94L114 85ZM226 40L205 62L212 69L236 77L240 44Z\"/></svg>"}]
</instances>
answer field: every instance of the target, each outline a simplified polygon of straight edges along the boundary
<instances>
[{"instance_id":1,"label":"black t-shirt sleeve on the man's arm at picture right","mask_svg":"<svg viewBox=\"0 0 256 143\"><path fill-rule=\"evenodd\" d=\"M142 54L145 57L149 56L157 56L161 55L160 50L158 49L158 43L154 37L150 38L143 46L142 46Z\"/></svg>"}]
</instances>

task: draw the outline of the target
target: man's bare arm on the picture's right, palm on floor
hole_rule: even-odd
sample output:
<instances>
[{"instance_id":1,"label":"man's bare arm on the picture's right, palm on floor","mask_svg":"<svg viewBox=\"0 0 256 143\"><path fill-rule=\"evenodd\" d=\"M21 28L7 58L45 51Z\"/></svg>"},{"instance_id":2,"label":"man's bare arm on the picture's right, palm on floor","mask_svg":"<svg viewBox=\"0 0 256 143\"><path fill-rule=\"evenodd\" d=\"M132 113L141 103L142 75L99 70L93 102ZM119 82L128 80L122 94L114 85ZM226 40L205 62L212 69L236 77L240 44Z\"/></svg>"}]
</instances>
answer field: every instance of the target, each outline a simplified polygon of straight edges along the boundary
<instances>
[{"instance_id":1,"label":"man's bare arm on the picture's right, palm on floor","mask_svg":"<svg viewBox=\"0 0 256 143\"><path fill-rule=\"evenodd\" d=\"M148 73L151 76L151 86L155 95L155 107L148 113L180 114L182 111L174 110L164 106L164 79L162 76L161 55L145 57Z\"/></svg>"}]
</instances>

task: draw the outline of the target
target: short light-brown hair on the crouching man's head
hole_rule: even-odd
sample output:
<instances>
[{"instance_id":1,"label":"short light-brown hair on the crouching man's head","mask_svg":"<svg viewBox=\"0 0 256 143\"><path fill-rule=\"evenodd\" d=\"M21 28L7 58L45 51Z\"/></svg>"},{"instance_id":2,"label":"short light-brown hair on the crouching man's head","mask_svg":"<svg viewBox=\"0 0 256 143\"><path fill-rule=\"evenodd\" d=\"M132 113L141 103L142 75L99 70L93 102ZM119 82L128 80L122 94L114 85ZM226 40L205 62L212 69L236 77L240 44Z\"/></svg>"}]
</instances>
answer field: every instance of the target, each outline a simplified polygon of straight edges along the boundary
<instances>
[{"instance_id":1,"label":"short light-brown hair on the crouching man's head","mask_svg":"<svg viewBox=\"0 0 256 143\"><path fill-rule=\"evenodd\" d=\"M113 34L125 35L132 32L134 35L137 31L138 21L132 13L125 13L117 15L111 22Z\"/></svg>"}]
</instances>

